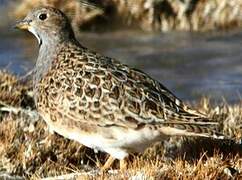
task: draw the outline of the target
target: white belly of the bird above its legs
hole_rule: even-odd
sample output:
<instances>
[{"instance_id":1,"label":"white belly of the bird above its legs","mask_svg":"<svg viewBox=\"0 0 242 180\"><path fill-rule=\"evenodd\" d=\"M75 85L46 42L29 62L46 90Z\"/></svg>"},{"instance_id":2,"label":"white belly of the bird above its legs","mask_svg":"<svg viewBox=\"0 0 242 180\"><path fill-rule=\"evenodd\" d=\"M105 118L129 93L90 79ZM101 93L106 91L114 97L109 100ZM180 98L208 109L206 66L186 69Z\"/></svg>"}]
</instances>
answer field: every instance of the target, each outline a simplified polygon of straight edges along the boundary
<instances>
[{"instance_id":1,"label":"white belly of the bird above its legs","mask_svg":"<svg viewBox=\"0 0 242 180\"><path fill-rule=\"evenodd\" d=\"M79 143L94 150L104 151L117 159L124 159L130 153L143 152L147 147L156 141L165 139L160 132L152 131L148 128L142 130L125 130L123 128L110 127L107 136L104 132L87 134L78 131L58 132L57 133L78 141ZM112 138L110 138L112 137Z\"/></svg>"}]
</instances>

